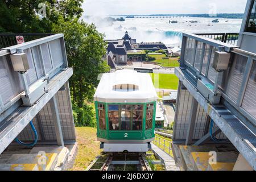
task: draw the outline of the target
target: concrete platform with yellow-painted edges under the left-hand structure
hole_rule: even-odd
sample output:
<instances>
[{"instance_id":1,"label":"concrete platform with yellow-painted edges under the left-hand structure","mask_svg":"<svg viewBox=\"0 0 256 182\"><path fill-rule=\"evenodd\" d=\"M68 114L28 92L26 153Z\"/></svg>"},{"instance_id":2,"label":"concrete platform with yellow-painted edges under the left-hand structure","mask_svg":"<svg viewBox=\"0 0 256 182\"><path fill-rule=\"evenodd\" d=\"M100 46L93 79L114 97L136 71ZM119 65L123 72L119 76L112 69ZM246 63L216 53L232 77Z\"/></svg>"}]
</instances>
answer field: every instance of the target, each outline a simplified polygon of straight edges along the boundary
<instances>
[{"instance_id":1,"label":"concrete platform with yellow-painted edges under the left-hand structure","mask_svg":"<svg viewBox=\"0 0 256 182\"><path fill-rule=\"evenodd\" d=\"M29 150L11 147L0 155L0 170L67 170L72 168L76 154L77 143L68 144L67 147L38 146Z\"/></svg>"}]
</instances>

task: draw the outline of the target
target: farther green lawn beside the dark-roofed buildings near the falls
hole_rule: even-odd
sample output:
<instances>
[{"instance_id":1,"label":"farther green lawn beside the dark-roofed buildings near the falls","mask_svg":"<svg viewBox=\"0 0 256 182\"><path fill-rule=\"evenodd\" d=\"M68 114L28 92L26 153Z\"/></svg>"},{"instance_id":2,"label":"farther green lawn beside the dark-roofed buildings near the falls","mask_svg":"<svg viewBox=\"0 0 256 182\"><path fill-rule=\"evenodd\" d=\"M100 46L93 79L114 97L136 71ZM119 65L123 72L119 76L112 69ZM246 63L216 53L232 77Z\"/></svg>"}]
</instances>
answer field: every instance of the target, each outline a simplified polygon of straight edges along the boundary
<instances>
[{"instance_id":1,"label":"farther green lawn beside the dark-roofed buildings near the falls","mask_svg":"<svg viewBox=\"0 0 256 182\"><path fill-rule=\"evenodd\" d=\"M162 59L163 57L166 57L166 55L148 55L151 57L155 57L155 63L158 63L162 67L179 67L180 64L177 61L178 57L169 57L169 59Z\"/></svg>"}]
</instances>

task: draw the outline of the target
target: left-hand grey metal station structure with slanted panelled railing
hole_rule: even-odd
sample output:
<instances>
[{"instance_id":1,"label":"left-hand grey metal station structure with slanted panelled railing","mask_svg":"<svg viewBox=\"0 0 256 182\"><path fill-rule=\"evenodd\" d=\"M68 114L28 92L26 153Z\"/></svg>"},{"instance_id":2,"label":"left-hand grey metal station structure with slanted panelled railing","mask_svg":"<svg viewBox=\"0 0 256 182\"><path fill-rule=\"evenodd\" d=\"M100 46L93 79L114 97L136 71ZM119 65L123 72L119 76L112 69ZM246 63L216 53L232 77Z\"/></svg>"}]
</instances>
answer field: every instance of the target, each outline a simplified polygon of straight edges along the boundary
<instances>
[{"instance_id":1,"label":"left-hand grey metal station structure with slanted panelled railing","mask_svg":"<svg viewBox=\"0 0 256 182\"><path fill-rule=\"evenodd\" d=\"M5 36L0 36L2 42L11 40ZM38 140L35 146L28 147L28 154L33 148L36 151L35 147L49 152L46 146L62 150L68 144L76 144L68 84L73 71L68 67L63 34L41 35L29 42L10 44L0 51L0 168L4 166L1 169L15 164L15 160L9 160L14 158L12 154L24 153L19 152L21 146L15 139L24 143L34 140L30 122Z\"/></svg>"}]
</instances>

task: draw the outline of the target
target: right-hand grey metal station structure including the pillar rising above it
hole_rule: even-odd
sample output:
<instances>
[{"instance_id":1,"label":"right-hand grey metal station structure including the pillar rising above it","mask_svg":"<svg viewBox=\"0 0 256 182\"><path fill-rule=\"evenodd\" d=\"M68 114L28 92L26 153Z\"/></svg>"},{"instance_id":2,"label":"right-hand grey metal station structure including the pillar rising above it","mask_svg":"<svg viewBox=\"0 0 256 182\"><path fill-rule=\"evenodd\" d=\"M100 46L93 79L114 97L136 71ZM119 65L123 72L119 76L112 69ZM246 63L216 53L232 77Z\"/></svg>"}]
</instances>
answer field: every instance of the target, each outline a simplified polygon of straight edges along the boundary
<instances>
[{"instance_id":1,"label":"right-hand grey metal station structure including the pillar rising above it","mask_svg":"<svg viewBox=\"0 0 256 182\"><path fill-rule=\"evenodd\" d=\"M242 159L230 169L256 169L255 9L256 1L247 1L236 44L183 33L180 67L175 69L177 163L185 161L184 148L230 144Z\"/></svg>"}]
</instances>

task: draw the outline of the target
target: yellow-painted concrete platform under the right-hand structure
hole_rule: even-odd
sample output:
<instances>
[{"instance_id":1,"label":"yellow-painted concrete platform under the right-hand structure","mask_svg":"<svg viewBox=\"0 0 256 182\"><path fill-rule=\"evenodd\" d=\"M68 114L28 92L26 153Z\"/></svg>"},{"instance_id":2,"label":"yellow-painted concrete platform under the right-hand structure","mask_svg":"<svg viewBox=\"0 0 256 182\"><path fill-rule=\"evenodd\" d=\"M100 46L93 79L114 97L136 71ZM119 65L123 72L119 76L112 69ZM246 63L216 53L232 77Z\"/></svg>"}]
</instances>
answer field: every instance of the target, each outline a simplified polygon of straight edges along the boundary
<instances>
[{"instance_id":1,"label":"yellow-painted concrete platform under the right-hand structure","mask_svg":"<svg viewBox=\"0 0 256 182\"><path fill-rule=\"evenodd\" d=\"M191 156L193 159L192 164L194 171L207 171L209 165L212 169L226 171L227 169L230 169L230 166L232 166L230 164L236 163L236 160L238 158L238 155L234 152L217 152L217 164L209 164L209 158L211 158L212 155L209 155L208 152L191 152Z\"/></svg>"}]
</instances>

